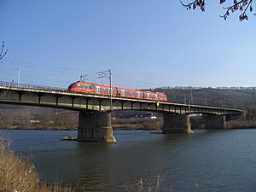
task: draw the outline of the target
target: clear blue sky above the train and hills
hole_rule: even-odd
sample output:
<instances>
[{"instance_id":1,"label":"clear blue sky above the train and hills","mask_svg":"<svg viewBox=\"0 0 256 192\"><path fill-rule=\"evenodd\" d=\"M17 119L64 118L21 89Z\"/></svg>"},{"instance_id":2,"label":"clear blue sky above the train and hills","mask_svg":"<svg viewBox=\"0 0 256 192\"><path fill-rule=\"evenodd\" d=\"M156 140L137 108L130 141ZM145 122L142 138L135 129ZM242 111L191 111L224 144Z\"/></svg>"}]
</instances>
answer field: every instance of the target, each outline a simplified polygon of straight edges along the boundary
<instances>
[{"instance_id":1,"label":"clear blue sky above the train and hills","mask_svg":"<svg viewBox=\"0 0 256 192\"><path fill-rule=\"evenodd\" d=\"M222 14L218 0L205 13L178 0L0 0L0 80L20 68L20 83L108 84L96 72L111 68L125 88L254 86L256 17Z\"/></svg>"}]
</instances>

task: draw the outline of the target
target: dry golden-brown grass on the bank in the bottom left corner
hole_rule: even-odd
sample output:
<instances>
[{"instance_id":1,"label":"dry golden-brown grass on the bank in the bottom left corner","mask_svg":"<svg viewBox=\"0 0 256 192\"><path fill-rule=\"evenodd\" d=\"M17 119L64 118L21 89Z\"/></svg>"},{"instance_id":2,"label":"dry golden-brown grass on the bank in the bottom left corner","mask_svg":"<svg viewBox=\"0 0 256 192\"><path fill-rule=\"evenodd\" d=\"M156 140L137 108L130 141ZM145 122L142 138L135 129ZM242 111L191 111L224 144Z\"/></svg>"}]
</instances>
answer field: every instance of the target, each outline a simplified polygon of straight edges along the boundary
<instances>
[{"instance_id":1,"label":"dry golden-brown grass on the bank in the bottom left corner","mask_svg":"<svg viewBox=\"0 0 256 192\"><path fill-rule=\"evenodd\" d=\"M0 136L0 191L6 192L73 192L61 183L49 185L39 180L29 160L17 157L9 148L9 140Z\"/></svg>"}]
</instances>

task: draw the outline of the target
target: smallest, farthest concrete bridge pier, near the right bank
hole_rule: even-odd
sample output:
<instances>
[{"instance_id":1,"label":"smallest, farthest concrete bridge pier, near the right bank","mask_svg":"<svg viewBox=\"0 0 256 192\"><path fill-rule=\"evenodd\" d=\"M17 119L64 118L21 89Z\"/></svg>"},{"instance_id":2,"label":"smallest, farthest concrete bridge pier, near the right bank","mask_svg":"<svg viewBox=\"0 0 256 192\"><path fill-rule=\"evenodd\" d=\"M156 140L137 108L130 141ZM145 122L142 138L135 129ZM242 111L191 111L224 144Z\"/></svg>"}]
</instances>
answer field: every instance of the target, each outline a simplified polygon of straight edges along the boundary
<instances>
[{"instance_id":1,"label":"smallest, farthest concrete bridge pier, near the right bank","mask_svg":"<svg viewBox=\"0 0 256 192\"><path fill-rule=\"evenodd\" d=\"M205 115L206 130L226 129L225 115Z\"/></svg>"}]
</instances>

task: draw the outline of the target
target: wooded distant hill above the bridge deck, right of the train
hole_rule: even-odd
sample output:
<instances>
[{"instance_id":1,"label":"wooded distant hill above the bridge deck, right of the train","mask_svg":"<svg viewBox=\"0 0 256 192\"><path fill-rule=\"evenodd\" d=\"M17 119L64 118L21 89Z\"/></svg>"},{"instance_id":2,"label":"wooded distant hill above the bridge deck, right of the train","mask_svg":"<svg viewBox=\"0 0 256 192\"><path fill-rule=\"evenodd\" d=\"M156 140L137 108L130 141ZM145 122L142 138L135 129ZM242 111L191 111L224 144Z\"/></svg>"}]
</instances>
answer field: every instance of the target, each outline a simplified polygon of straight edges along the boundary
<instances>
[{"instance_id":1,"label":"wooded distant hill above the bridge deck, right of the train","mask_svg":"<svg viewBox=\"0 0 256 192\"><path fill-rule=\"evenodd\" d=\"M253 108L256 106L256 89L224 88L157 88L170 102L200 104L226 108Z\"/></svg>"}]
</instances>

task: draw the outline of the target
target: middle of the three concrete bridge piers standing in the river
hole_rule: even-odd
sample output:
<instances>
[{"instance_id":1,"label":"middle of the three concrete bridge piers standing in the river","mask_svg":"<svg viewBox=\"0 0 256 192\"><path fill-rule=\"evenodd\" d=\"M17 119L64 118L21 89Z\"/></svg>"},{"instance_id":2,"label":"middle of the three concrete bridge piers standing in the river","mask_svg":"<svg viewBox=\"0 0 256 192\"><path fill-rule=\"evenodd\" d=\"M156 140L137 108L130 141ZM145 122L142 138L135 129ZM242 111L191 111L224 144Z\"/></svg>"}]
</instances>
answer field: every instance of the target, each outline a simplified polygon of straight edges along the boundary
<instances>
[{"instance_id":1,"label":"middle of the three concrete bridge piers standing in the river","mask_svg":"<svg viewBox=\"0 0 256 192\"><path fill-rule=\"evenodd\" d=\"M193 133L189 115L164 115L163 133Z\"/></svg>"}]
</instances>

